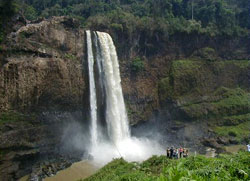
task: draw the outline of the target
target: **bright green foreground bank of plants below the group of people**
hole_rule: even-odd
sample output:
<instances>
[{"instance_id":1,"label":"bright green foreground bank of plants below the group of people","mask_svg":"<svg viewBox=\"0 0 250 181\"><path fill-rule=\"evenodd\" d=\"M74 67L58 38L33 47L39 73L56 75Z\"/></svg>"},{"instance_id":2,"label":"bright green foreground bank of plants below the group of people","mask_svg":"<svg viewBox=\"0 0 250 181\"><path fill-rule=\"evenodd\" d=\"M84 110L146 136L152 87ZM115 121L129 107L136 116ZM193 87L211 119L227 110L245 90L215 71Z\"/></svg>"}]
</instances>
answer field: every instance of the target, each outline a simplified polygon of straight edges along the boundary
<instances>
[{"instance_id":1,"label":"bright green foreground bank of plants below the group of people","mask_svg":"<svg viewBox=\"0 0 250 181\"><path fill-rule=\"evenodd\" d=\"M113 160L86 181L249 180L250 153L170 160L153 156L142 163Z\"/></svg>"}]
</instances>

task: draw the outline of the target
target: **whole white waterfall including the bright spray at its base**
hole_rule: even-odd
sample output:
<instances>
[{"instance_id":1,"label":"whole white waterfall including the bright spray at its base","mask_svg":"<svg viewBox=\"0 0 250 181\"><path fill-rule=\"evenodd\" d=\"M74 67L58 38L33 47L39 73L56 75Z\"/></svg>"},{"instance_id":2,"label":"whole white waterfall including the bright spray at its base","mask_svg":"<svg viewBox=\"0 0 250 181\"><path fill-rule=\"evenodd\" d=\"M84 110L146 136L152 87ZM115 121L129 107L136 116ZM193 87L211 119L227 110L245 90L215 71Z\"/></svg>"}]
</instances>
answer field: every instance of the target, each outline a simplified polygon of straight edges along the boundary
<instances>
[{"instance_id":1,"label":"whole white waterfall including the bright spray at its base","mask_svg":"<svg viewBox=\"0 0 250 181\"><path fill-rule=\"evenodd\" d=\"M89 152L94 157L94 161L105 164L112 158L119 157L123 157L127 161L142 161L152 155L164 153L164 149L157 142L130 135L118 57L110 35L88 30L86 40L91 117L91 149ZM95 64L97 64L97 72L94 72ZM98 79L96 80L95 77ZM99 96L96 86L100 90L101 95ZM105 110L105 116L98 119L100 110ZM105 132L108 139L103 139L104 135L101 134L100 122L102 119L105 119Z\"/></svg>"}]
</instances>

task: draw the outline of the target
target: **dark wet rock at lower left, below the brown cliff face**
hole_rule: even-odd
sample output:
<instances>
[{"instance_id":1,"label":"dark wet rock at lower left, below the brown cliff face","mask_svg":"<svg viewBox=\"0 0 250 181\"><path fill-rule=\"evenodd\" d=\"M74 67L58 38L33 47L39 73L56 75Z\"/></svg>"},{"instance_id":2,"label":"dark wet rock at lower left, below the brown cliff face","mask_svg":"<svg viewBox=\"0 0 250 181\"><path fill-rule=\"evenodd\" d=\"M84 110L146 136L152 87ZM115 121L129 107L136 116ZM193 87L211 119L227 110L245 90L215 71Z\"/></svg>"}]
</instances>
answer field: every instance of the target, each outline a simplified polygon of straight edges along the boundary
<instances>
[{"instance_id":1,"label":"dark wet rock at lower left, below the brown cliff face","mask_svg":"<svg viewBox=\"0 0 250 181\"><path fill-rule=\"evenodd\" d=\"M79 114L44 113L32 119L24 119L25 116L1 123L0 180L17 180L30 173L33 180L43 178L84 158L83 147L68 145L70 141L63 138L64 135L73 139L70 137L73 133L65 129L77 120Z\"/></svg>"}]
</instances>

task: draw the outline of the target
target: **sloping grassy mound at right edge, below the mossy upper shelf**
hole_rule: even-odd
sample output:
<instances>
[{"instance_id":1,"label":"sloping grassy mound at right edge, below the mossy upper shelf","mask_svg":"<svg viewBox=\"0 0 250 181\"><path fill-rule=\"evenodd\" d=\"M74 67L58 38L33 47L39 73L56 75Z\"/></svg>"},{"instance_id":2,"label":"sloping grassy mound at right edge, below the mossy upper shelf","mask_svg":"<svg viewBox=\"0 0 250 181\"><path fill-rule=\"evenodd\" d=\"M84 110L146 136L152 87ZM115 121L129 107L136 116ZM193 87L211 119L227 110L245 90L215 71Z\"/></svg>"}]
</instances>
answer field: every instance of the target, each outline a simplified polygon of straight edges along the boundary
<instances>
[{"instance_id":1,"label":"sloping grassy mound at right edge, below the mossy upper shelf","mask_svg":"<svg viewBox=\"0 0 250 181\"><path fill-rule=\"evenodd\" d=\"M215 91L214 94L207 96L204 101L188 102L181 106L181 108L192 119L223 119L230 122L240 119L248 120L248 113L250 113L250 93L245 92L240 88L229 89L221 87ZM245 115L239 116L239 115ZM234 116L234 117L233 117ZM235 120L234 120L235 119ZM224 121L224 122L225 122Z\"/></svg>"}]
</instances>

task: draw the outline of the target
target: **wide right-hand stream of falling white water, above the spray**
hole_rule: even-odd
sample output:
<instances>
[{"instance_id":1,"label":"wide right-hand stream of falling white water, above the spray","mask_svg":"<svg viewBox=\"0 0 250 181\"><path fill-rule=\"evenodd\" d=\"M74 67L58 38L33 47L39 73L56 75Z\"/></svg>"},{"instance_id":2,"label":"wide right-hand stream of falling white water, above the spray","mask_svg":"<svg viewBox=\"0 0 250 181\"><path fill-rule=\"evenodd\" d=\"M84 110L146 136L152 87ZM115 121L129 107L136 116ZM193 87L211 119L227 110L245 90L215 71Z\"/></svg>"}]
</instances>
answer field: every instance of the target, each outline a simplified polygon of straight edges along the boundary
<instances>
[{"instance_id":1,"label":"wide right-hand stream of falling white water, above the spray","mask_svg":"<svg viewBox=\"0 0 250 181\"><path fill-rule=\"evenodd\" d=\"M104 71L108 135L111 141L117 144L119 141L130 137L118 58L110 35L102 32L97 32L97 35L100 42L101 64Z\"/></svg>"}]
</instances>

